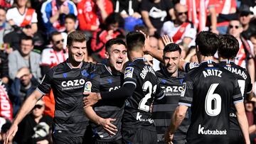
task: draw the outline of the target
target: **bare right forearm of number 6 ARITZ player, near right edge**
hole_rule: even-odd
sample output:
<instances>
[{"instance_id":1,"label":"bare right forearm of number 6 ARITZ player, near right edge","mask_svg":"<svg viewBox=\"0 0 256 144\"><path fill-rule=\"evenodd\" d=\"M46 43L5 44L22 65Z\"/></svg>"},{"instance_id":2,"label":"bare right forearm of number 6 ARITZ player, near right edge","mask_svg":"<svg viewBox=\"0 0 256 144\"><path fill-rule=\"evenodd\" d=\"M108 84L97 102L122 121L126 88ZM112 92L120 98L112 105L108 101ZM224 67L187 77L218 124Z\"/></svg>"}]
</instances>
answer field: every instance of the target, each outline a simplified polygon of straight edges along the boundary
<instances>
[{"instance_id":1,"label":"bare right forearm of number 6 ARITZ player, near right edge","mask_svg":"<svg viewBox=\"0 0 256 144\"><path fill-rule=\"evenodd\" d=\"M238 117L238 122L242 130L242 134L244 135L244 138L245 138L245 143L249 144L250 143L249 126L248 126L247 117L245 115L245 106L243 102L236 103L235 109L237 110L236 115Z\"/></svg>"}]
</instances>

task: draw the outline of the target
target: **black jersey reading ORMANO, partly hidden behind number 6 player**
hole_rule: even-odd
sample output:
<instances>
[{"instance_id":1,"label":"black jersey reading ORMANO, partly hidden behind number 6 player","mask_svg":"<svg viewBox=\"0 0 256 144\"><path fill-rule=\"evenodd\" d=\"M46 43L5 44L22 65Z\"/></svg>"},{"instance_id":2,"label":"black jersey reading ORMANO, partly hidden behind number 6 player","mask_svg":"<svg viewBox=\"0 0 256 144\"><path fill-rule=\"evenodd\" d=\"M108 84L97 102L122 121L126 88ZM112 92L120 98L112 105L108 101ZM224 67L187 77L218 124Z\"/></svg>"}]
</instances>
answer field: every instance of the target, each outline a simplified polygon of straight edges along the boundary
<instances>
[{"instance_id":1,"label":"black jersey reading ORMANO, partly hidden behind number 6 player","mask_svg":"<svg viewBox=\"0 0 256 144\"><path fill-rule=\"evenodd\" d=\"M244 98L246 97L246 94L250 94L250 92L252 91L252 83L247 70L238 65L235 65L234 62L231 62L229 60L220 61L220 65L235 74L235 77L238 79L240 91ZM230 109L230 129L240 130L238 118L236 117L235 113L235 106L232 105Z\"/></svg>"}]
</instances>

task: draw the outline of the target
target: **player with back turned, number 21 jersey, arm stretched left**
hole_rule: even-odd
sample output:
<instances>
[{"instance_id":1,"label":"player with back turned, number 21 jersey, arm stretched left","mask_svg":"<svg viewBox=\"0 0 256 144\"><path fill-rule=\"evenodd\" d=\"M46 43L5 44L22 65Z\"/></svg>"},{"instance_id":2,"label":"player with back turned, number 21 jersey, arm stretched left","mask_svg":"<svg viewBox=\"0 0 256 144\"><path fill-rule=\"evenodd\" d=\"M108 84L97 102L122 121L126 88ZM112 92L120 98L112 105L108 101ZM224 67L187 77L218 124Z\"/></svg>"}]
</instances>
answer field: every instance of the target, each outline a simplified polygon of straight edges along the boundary
<instances>
[{"instance_id":1,"label":"player with back turned, number 21 jersey, arm stretched left","mask_svg":"<svg viewBox=\"0 0 256 144\"><path fill-rule=\"evenodd\" d=\"M122 138L124 143L155 144L156 128L151 118L150 106L154 98L161 99L164 93L158 84L158 78L150 65L145 64L144 34L127 34L127 53L129 64L124 70L123 87L112 92L84 93L86 106L94 104L92 99L127 99L122 117Z\"/></svg>"}]
</instances>

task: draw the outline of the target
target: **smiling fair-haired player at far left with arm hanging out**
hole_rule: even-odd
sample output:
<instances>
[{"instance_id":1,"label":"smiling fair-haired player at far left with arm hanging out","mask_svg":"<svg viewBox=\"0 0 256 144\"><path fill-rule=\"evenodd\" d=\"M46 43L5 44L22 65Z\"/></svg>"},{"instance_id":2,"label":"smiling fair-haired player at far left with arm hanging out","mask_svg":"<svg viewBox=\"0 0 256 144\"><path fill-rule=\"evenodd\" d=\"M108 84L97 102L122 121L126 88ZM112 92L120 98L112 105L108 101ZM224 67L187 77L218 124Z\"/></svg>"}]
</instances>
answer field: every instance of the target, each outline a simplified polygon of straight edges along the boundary
<instances>
[{"instance_id":1,"label":"smiling fair-haired player at far left with arm hanging out","mask_svg":"<svg viewBox=\"0 0 256 144\"><path fill-rule=\"evenodd\" d=\"M14 137L18 123L51 88L55 97L53 142L82 143L88 121L82 107L82 92L90 70L95 69L94 65L83 61L87 52L86 41L85 34L80 31L68 35L68 60L46 72L41 84L18 111L4 143Z\"/></svg>"}]
</instances>

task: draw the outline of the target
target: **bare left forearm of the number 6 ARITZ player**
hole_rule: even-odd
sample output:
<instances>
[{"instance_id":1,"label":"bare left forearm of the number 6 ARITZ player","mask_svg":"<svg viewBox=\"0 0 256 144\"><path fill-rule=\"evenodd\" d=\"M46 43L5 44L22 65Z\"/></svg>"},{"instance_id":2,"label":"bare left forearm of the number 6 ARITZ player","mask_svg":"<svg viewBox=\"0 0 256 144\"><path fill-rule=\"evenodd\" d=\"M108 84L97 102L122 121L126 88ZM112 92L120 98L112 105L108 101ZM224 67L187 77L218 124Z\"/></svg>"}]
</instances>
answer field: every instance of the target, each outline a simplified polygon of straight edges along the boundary
<instances>
[{"instance_id":1,"label":"bare left forearm of the number 6 ARITZ player","mask_svg":"<svg viewBox=\"0 0 256 144\"><path fill-rule=\"evenodd\" d=\"M164 135L164 140L166 141L166 143L171 142L174 132L178 129L178 126L181 125L181 122L186 116L187 110L188 110L188 106L180 105L174 111L174 114L171 118L170 126L167 129L166 134Z\"/></svg>"}]
</instances>

